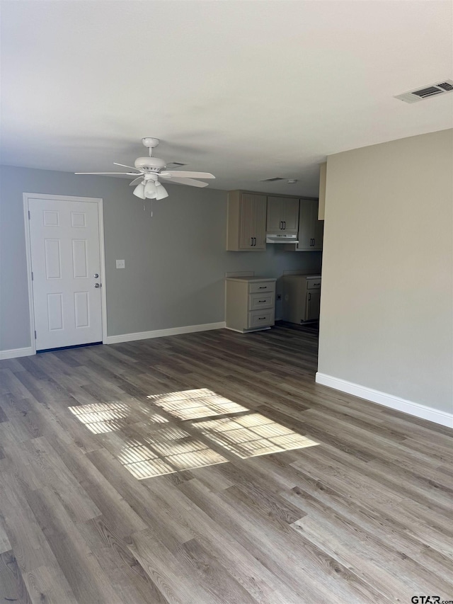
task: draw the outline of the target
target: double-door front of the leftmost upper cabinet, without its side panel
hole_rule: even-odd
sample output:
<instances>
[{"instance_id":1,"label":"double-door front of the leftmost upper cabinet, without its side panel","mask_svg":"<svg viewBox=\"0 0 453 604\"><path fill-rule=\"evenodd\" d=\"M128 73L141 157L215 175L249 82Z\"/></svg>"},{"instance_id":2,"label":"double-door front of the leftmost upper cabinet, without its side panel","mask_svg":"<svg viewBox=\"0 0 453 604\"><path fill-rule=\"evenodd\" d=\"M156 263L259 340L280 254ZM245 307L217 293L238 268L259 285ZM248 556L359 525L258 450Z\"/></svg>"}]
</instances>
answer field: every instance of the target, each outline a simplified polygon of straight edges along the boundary
<instances>
[{"instance_id":1,"label":"double-door front of the leftmost upper cabinet, without its side panel","mask_svg":"<svg viewBox=\"0 0 453 604\"><path fill-rule=\"evenodd\" d=\"M265 249L265 195L242 193L239 216L239 248L251 251Z\"/></svg>"}]
</instances>

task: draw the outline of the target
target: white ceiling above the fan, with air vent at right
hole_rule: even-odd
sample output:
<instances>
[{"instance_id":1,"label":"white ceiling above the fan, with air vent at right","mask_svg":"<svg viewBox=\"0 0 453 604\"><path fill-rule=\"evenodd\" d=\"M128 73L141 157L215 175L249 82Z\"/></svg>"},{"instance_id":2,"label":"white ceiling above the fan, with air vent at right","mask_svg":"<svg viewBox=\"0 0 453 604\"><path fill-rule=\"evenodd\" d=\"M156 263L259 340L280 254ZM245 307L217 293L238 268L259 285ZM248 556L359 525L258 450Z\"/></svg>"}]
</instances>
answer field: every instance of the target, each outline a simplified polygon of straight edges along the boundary
<instances>
[{"instance_id":1,"label":"white ceiling above the fan, with air vent at right","mask_svg":"<svg viewBox=\"0 0 453 604\"><path fill-rule=\"evenodd\" d=\"M2 163L146 154L210 186L317 195L327 155L452 127L451 1L2 1ZM261 178L298 183L260 183ZM84 178L81 176L80 178Z\"/></svg>"}]
</instances>

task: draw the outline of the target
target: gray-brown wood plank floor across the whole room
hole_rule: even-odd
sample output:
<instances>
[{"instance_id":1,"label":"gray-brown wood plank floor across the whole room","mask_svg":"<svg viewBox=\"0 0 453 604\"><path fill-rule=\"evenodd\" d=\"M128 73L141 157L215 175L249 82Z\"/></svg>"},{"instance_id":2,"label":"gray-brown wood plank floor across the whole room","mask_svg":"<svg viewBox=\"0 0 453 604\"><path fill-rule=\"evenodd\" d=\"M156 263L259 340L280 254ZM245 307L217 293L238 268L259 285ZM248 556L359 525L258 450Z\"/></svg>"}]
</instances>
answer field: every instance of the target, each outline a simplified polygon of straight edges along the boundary
<instances>
[{"instance_id":1,"label":"gray-brown wood plank floor across the whole room","mask_svg":"<svg viewBox=\"0 0 453 604\"><path fill-rule=\"evenodd\" d=\"M314 383L316 336L0 361L0 602L453 600L453 433Z\"/></svg>"}]
</instances>

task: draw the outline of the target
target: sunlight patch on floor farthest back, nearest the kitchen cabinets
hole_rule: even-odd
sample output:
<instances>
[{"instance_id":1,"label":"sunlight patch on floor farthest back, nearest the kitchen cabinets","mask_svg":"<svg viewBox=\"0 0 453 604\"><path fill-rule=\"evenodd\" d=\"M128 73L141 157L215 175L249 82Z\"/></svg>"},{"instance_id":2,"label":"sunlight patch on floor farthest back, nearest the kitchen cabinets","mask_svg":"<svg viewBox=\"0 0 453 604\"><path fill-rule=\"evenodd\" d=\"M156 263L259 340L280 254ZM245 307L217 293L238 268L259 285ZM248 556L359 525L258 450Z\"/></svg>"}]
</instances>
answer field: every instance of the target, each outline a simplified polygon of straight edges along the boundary
<instances>
[{"instance_id":1,"label":"sunlight patch on floor farthest back, nearest the kitchen cabinets","mask_svg":"<svg viewBox=\"0 0 453 604\"><path fill-rule=\"evenodd\" d=\"M207 388L150 394L147 398L168 414L183 420L248 411L246 407L220 397Z\"/></svg>"}]
</instances>

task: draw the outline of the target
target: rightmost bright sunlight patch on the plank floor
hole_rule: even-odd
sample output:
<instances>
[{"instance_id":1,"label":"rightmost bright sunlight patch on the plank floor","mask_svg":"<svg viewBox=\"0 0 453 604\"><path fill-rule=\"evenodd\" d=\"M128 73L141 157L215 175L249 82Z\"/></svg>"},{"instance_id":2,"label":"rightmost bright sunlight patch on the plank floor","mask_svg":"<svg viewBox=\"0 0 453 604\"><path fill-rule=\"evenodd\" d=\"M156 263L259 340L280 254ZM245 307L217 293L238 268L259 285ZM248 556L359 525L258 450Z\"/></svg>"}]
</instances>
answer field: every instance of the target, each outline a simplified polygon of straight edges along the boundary
<instances>
[{"instance_id":1,"label":"rightmost bright sunlight patch on the plank floor","mask_svg":"<svg viewBox=\"0 0 453 604\"><path fill-rule=\"evenodd\" d=\"M195 422L193 426L242 459L319 444L255 413Z\"/></svg>"}]
</instances>

